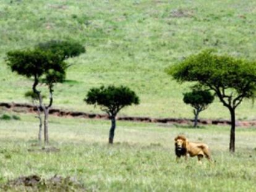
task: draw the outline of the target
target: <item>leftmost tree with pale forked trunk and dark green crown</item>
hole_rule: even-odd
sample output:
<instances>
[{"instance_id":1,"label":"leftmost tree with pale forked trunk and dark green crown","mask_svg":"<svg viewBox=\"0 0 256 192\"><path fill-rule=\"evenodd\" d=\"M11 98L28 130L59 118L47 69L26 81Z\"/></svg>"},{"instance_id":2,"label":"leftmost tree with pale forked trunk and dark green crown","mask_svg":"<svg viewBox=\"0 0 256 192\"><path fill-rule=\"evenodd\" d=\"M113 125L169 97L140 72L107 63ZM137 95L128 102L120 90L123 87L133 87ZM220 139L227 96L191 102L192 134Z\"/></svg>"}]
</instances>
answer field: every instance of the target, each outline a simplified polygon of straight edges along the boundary
<instances>
[{"instance_id":1,"label":"leftmost tree with pale forked trunk and dark green crown","mask_svg":"<svg viewBox=\"0 0 256 192\"><path fill-rule=\"evenodd\" d=\"M27 78L33 79L32 90L38 97L39 106L43 109L44 137L45 143L49 142L48 115L53 104L53 87L55 83L61 83L66 76L66 63L63 61L62 53L53 54L51 51L41 49L28 49L7 52L7 65L12 71ZM38 84L46 85L49 91L49 102L43 102L41 91L37 89Z\"/></svg>"}]
</instances>

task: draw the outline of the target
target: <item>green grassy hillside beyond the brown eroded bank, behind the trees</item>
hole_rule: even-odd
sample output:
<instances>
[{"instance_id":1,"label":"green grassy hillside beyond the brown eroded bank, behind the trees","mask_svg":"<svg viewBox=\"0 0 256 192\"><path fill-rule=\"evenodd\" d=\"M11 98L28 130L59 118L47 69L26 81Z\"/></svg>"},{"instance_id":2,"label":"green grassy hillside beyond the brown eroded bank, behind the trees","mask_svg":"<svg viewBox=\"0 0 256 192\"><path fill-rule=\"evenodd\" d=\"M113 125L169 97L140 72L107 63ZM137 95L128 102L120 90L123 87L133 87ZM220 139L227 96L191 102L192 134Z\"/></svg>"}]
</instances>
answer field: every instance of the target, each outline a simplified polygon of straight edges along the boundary
<instances>
[{"instance_id":1,"label":"green grassy hillside beyond the brown eroded bank, behind the trees","mask_svg":"<svg viewBox=\"0 0 256 192\"><path fill-rule=\"evenodd\" d=\"M75 65L66 83L56 86L55 107L99 112L82 101L90 88L127 85L141 104L120 115L191 118L192 110L182 102L189 85L177 84L164 69L204 48L256 59L255 7L254 0L0 0L0 101L24 102L32 86L7 69L7 51L72 38L87 53L67 61ZM255 119L255 112L245 101L237 119ZM229 114L216 99L201 117Z\"/></svg>"}]
</instances>

